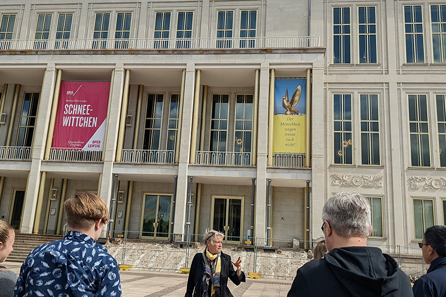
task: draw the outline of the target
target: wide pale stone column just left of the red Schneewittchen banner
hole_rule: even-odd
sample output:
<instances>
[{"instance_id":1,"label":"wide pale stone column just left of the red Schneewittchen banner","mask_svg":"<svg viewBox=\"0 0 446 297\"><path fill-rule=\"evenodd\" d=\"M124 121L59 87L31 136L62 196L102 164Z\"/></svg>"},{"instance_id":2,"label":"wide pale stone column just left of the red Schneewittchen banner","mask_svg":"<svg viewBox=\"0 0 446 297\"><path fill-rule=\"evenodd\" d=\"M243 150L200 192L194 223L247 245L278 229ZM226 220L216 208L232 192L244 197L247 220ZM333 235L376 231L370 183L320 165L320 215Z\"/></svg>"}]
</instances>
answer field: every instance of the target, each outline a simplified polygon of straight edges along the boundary
<instances>
[{"instance_id":1,"label":"wide pale stone column just left of the red Schneewittchen banner","mask_svg":"<svg viewBox=\"0 0 446 297\"><path fill-rule=\"evenodd\" d=\"M20 232L31 233L36 216L37 200L40 185L40 165L45 153L48 125L51 116L51 107L56 84L56 68L49 65L43 76L43 84L40 92L39 109L34 129L33 145L31 151L31 170L28 173L25 201L23 203L23 215ZM37 226L38 230L38 226Z\"/></svg>"}]
</instances>

